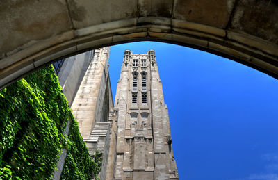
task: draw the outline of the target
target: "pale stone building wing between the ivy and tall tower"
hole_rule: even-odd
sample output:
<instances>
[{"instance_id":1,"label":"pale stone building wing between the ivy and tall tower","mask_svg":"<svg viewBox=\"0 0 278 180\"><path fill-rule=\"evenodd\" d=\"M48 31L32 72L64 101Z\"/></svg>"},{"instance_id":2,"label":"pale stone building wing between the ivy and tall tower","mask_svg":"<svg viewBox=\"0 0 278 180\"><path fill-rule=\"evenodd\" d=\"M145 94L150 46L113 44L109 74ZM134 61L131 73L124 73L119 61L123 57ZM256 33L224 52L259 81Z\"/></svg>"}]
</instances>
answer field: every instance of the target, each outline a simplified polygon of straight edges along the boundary
<instances>
[{"instance_id":1,"label":"pale stone building wing between the ivy and tall tower","mask_svg":"<svg viewBox=\"0 0 278 180\"><path fill-rule=\"evenodd\" d=\"M110 47L103 47L53 64L90 155L95 154L96 150L103 154L99 172L101 180L106 178L111 124L108 120L109 112L113 112L109 54ZM54 179L60 179L65 156L66 149L57 163L58 170L54 170Z\"/></svg>"}]
</instances>

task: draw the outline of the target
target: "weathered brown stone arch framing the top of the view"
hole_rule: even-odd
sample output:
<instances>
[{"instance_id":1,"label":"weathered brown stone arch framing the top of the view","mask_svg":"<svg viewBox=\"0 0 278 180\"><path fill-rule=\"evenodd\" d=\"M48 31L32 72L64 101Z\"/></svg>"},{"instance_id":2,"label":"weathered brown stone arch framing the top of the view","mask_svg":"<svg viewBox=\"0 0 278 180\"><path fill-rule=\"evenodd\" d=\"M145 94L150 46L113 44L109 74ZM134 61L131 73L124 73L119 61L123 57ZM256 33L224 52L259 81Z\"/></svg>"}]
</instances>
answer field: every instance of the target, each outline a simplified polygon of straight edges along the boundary
<instances>
[{"instance_id":1,"label":"weathered brown stone arch framing the top of the view","mask_svg":"<svg viewBox=\"0 0 278 180\"><path fill-rule=\"evenodd\" d=\"M107 0L108 6L104 8L100 3L93 6L90 1L82 4L78 1L49 2L58 7L51 14L43 8L51 10L53 7L45 5L41 8L38 4L44 2L17 7L13 7L15 2L10 1L0 4L1 9L9 7L0 13L0 25L5 23L7 27L0 30L3 37L0 41L0 88L60 58L89 49L142 40L208 51L278 79L276 4L213 0L199 1L199 6L196 6L193 1L175 0L169 3L118 1L121 6L116 6ZM145 6L149 3L153 8ZM98 13L90 13L87 5ZM36 6L36 11L33 6ZM117 7L119 11L111 12L109 7ZM30 12L25 17L17 15L28 9ZM190 12L197 13L190 15ZM25 24L19 22L20 18L26 21ZM261 18L261 21L253 21L252 18Z\"/></svg>"}]
</instances>

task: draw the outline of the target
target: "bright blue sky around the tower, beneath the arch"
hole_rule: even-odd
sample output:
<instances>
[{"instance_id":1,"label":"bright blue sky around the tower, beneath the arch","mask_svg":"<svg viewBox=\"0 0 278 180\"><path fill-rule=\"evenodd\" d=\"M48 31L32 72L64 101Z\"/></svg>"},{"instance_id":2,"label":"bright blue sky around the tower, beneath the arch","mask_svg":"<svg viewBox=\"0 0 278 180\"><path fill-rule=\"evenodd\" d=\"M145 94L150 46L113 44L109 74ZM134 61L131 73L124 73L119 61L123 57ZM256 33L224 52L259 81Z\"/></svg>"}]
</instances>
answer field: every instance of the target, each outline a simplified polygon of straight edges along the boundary
<instances>
[{"instance_id":1,"label":"bright blue sky around the tower, beneath the arch","mask_svg":"<svg viewBox=\"0 0 278 180\"><path fill-rule=\"evenodd\" d=\"M278 81L232 60L160 42L111 47L113 98L124 50L156 52L181 180L278 179Z\"/></svg>"}]
</instances>

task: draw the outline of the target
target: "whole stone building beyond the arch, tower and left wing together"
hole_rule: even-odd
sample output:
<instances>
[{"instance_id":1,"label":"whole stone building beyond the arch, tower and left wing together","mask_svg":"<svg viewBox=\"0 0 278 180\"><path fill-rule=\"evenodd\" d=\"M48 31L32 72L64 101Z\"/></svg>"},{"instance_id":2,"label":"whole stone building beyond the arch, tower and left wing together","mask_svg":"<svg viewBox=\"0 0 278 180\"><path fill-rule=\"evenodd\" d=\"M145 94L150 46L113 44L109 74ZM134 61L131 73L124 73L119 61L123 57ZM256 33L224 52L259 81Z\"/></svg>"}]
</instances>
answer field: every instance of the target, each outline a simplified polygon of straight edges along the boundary
<instances>
[{"instance_id":1,"label":"whole stone building beyond the arch, tower and left wing together","mask_svg":"<svg viewBox=\"0 0 278 180\"><path fill-rule=\"evenodd\" d=\"M109 54L104 47L54 64L89 153L103 153L99 179L179 179L154 50L124 52L115 105ZM66 155L58 161L54 179L59 179Z\"/></svg>"}]
</instances>

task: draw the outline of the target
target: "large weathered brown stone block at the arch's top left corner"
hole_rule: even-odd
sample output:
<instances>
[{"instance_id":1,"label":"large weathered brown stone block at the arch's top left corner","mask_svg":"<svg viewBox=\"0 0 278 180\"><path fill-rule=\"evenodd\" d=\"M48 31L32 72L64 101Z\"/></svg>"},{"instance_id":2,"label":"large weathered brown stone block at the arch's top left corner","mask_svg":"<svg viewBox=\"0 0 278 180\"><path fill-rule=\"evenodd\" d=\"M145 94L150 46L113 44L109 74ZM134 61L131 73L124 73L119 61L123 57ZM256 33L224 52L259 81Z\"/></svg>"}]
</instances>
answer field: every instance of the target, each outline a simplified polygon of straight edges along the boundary
<instances>
[{"instance_id":1,"label":"large weathered brown stone block at the arch's top left corner","mask_svg":"<svg viewBox=\"0 0 278 180\"><path fill-rule=\"evenodd\" d=\"M1 1L0 12L0 54L72 28L65 0Z\"/></svg>"}]
</instances>

